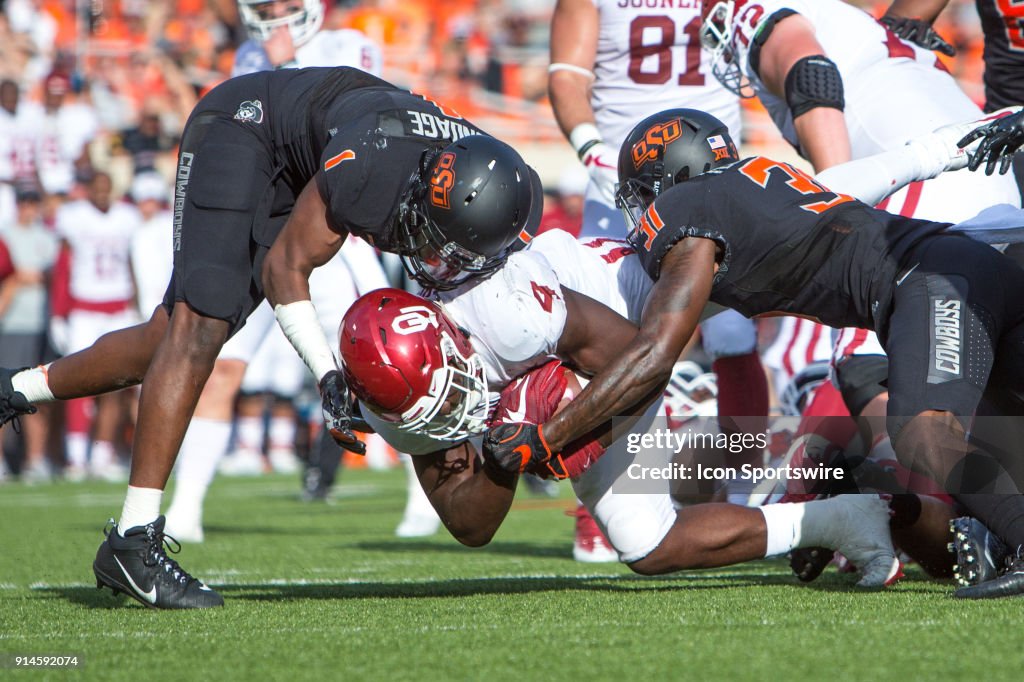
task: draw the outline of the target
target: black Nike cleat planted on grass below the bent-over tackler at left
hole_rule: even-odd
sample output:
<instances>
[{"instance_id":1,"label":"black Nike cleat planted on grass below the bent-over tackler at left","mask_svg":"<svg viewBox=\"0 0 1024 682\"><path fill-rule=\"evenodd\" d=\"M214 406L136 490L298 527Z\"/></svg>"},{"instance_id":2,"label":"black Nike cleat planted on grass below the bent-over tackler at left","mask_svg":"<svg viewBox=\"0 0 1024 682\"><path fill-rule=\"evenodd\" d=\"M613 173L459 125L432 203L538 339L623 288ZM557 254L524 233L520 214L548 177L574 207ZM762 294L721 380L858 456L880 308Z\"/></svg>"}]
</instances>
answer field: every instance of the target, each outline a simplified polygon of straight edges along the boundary
<instances>
[{"instance_id":1,"label":"black Nike cleat planted on grass below the bent-over tackler at left","mask_svg":"<svg viewBox=\"0 0 1024 682\"><path fill-rule=\"evenodd\" d=\"M164 545L177 549L177 541L164 535L164 517L153 523L130 528L122 538L117 526L109 524L106 540L96 552L92 572L96 587L124 592L150 608L209 608L223 606L223 598L189 576L167 556Z\"/></svg>"}]
</instances>

